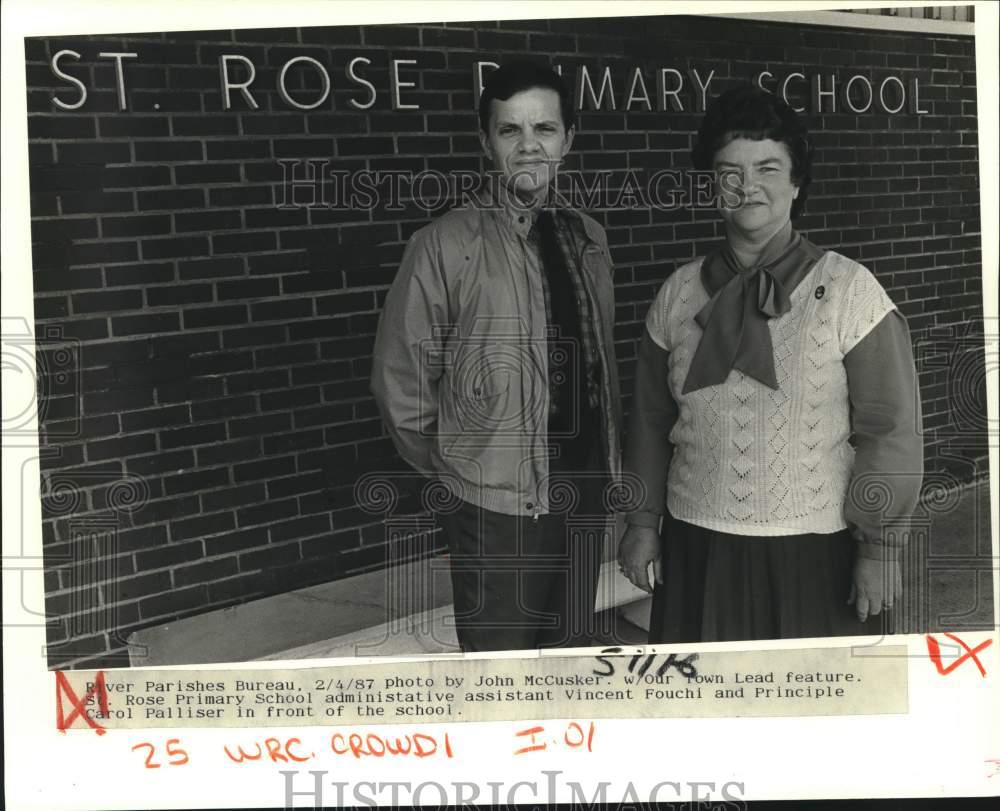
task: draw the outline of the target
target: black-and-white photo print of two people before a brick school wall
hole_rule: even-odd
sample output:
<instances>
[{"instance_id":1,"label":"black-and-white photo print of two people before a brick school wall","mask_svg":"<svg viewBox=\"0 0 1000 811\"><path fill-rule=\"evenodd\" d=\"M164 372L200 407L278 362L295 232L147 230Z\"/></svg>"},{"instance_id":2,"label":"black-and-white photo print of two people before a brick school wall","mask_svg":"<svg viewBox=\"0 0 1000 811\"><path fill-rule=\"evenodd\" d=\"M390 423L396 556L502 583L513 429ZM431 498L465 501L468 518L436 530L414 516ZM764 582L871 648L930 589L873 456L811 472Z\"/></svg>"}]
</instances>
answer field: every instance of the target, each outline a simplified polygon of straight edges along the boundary
<instances>
[{"instance_id":1,"label":"black-and-white photo print of two people before a brick school wall","mask_svg":"<svg viewBox=\"0 0 1000 811\"><path fill-rule=\"evenodd\" d=\"M995 630L979 5L337 5L23 37L39 668Z\"/></svg>"}]
</instances>

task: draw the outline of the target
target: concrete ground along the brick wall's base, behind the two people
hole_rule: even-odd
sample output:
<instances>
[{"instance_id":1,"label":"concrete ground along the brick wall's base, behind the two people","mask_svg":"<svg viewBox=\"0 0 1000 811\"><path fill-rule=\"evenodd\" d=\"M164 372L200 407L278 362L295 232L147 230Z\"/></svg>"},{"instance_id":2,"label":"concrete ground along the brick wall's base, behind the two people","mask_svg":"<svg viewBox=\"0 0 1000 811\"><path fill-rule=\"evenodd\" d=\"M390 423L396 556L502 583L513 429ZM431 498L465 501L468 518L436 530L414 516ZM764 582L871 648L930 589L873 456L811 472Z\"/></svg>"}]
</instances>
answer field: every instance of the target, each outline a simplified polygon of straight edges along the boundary
<instances>
[{"instance_id":1,"label":"concrete ground along the brick wall's base, behind the two people","mask_svg":"<svg viewBox=\"0 0 1000 811\"><path fill-rule=\"evenodd\" d=\"M903 560L897 630L992 627L996 561L989 487L942 494L914 522ZM845 592L846 599L846 592ZM595 645L644 644L649 599L608 561L598 595ZM148 628L129 640L134 665L457 652L447 562L391 570Z\"/></svg>"}]
</instances>

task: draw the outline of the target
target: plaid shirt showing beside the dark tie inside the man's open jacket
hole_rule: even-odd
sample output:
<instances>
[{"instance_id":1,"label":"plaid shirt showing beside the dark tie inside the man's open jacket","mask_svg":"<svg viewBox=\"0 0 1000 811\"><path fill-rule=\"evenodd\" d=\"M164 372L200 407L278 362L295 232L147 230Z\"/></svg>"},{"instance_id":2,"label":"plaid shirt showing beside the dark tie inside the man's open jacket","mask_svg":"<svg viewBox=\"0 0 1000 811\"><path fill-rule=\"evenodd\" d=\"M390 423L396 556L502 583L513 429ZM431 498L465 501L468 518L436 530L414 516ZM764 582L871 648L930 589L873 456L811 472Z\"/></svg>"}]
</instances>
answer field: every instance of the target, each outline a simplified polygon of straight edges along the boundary
<instances>
[{"instance_id":1,"label":"plaid shirt showing beside the dark tie inside the man's open jacket","mask_svg":"<svg viewBox=\"0 0 1000 811\"><path fill-rule=\"evenodd\" d=\"M563 256L566 258L566 267L569 270L569 277L573 282L573 292L576 294L577 313L580 317L580 350L582 352L583 367L587 379L587 400L592 410L600 407L601 402L601 380L600 362L597 356L597 335L594 331L594 319L590 309L590 298L587 295L587 288L584 285L583 275L580 272L581 256L587 244L587 235L583 230L583 223L577 213L567 207L557 204L552 208L552 219L555 223L556 238ZM529 241L538 250L538 229L531 227L528 235ZM539 255L539 259L541 256ZM549 291L548 276L543 272L542 290L545 294L545 316L549 324L553 323L552 317L552 296ZM549 374L549 415L557 413L558 404L555 396L556 384L554 376Z\"/></svg>"}]
</instances>

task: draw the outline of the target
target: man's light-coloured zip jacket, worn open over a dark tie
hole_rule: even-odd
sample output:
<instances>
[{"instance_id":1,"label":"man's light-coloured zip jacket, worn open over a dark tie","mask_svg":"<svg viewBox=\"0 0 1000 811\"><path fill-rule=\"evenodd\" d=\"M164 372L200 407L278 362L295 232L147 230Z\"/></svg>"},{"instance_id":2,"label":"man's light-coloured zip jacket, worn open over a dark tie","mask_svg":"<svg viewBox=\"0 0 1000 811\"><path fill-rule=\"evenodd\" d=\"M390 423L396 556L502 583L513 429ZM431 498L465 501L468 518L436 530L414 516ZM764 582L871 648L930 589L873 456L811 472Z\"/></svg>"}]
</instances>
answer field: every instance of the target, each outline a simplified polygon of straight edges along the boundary
<instances>
[{"instance_id":1,"label":"man's light-coloured zip jacket, worn open over a dark tie","mask_svg":"<svg viewBox=\"0 0 1000 811\"><path fill-rule=\"evenodd\" d=\"M621 399L614 287L604 229L587 236L581 274L596 317L608 470L620 471ZM531 218L455 209L417 231L386 299L372 392L400 455L459 498L494 512L549 511L547 319Z\"/></svg>"}]
</instances>

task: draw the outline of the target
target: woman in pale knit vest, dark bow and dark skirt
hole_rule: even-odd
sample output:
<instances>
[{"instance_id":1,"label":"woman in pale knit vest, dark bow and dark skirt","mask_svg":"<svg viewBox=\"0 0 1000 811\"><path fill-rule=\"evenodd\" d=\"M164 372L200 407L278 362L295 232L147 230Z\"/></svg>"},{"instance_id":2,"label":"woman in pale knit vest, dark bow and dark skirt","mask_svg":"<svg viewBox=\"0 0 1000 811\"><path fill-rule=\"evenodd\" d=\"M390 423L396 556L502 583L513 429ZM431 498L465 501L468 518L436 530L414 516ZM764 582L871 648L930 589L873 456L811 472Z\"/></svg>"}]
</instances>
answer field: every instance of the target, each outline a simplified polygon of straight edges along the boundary
<instances>
[{"instance_id":1,"label":"woman in pale knit vest, dark bow and dark skirt","mask_svg":"<svg viewBox=\"0 0 1000 811\"><path fill-rule=\"evenodd\" d=\"M698 131L725 243L649 310L625 456L646 498L619 564L653 592L650 642L879 633L900 599L923 470L910 336L866 268L793 229L811 153L749 86Z\"/></svg>"}]
</instances>

